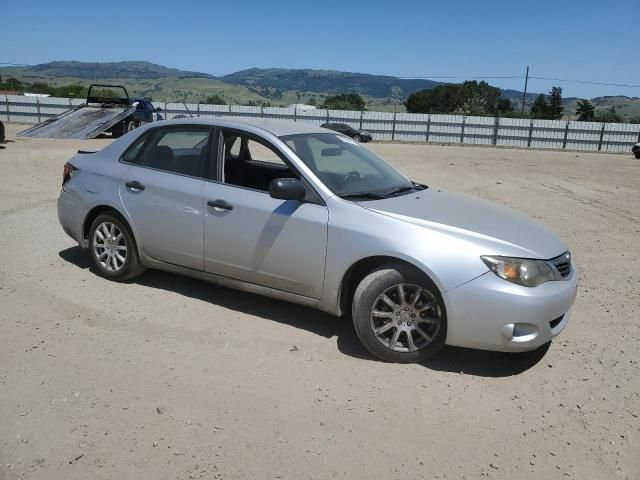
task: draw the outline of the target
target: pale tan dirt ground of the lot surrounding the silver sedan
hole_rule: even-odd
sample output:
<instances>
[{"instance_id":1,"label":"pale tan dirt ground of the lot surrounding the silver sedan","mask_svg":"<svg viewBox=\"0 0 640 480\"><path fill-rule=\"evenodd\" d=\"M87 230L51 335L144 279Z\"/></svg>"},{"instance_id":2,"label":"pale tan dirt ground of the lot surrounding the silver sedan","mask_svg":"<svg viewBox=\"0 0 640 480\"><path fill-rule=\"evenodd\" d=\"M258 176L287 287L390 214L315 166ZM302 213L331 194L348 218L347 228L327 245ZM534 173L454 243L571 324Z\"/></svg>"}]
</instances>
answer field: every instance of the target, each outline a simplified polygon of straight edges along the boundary
<instances>
[{"instance_id":1,"label":"pale tan dirt ground of the lot surrounding the silver sedan","mask_svg":"<svg viewBox=\"0 0 640 480\"><path fill-rule=\"evenodd\" d=\"M432 187L538 218L581 273L546 352L377 362L351 325L148 272L88 270L62 166L108 140L0 150L0 479L640 478L640 161L373 144ZM1 148L1 147L0 147Z\"/></svg>"}]
</instances>

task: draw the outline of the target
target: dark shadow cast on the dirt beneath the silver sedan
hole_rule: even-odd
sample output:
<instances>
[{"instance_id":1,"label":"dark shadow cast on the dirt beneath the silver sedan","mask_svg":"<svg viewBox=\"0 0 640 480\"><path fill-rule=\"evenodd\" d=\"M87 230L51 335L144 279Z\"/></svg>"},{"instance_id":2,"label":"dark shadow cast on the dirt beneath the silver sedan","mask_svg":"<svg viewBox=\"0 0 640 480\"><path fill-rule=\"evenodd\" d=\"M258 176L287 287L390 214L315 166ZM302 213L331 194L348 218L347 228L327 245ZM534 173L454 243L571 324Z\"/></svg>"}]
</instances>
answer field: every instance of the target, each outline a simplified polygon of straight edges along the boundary
<instances>
[{"instance_id":1,"label":"dark shadow cast on the dirt beneath the silver sedan","mask_svg":"<svg viewBox=\"0 0 640 480\"><path fill-rule=\"evenodd\" d=\"M87 251L79 246L62 250L59 255L78 268L90 267ZM132 282L307 330L325 338L336 337L341 353L366 361L378 361L362 346L348 317L338 318L301 305L158 270L148 270ZM532 352L517 354L446 346L421 365L430 370L443 372L481 377L508 377L523 373L536 365L544 358L549 345L546 344Z\"/></svg>"}]
</instances>

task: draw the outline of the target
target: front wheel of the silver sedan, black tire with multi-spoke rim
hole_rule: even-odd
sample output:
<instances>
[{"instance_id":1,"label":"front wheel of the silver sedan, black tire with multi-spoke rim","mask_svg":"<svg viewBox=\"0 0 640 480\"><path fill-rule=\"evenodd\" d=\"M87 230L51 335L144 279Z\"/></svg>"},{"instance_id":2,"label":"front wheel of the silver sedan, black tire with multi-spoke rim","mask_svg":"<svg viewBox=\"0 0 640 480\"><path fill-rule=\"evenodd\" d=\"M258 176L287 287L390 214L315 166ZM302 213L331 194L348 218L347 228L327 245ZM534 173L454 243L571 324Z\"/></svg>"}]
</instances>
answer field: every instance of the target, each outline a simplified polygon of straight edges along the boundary
<instances>
[{"instance_id":1,"label":"front wheel of the silver sedan, black tire with multi-spoke rim","mask_svg":"<svg viewBox=\"0 0 640 480\"><path fill-rule=\"evenodd\" d=\"M402 264L379 267L360 282L352 316L362 344L385 362L422 362L447 337L440 291L424 274Z\"/></svg>"}]
</instances>

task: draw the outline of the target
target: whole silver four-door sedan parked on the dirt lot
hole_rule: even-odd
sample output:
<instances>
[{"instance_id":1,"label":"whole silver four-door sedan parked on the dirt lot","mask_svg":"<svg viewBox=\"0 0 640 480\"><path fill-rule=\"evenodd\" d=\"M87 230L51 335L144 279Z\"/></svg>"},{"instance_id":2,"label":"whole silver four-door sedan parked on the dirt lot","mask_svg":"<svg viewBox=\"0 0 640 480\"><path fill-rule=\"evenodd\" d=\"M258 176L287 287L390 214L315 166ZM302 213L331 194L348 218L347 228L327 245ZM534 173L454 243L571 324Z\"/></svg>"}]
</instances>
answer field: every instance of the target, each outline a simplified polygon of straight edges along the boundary
<instances>
[{"instance_id":1,"label":"whole silver four-door sedan parked on the dirt lot","mask_svg":"<svg viewBox=\"0 0 640 480\"><path fill-rule=\"evenodd\" d=\"M350 315L392 362L536 349L567 325L578 282L542 224L301 123L136 129L65 165L58 216L98 275L156 268Z\"/></svg>"}]
</instances>

